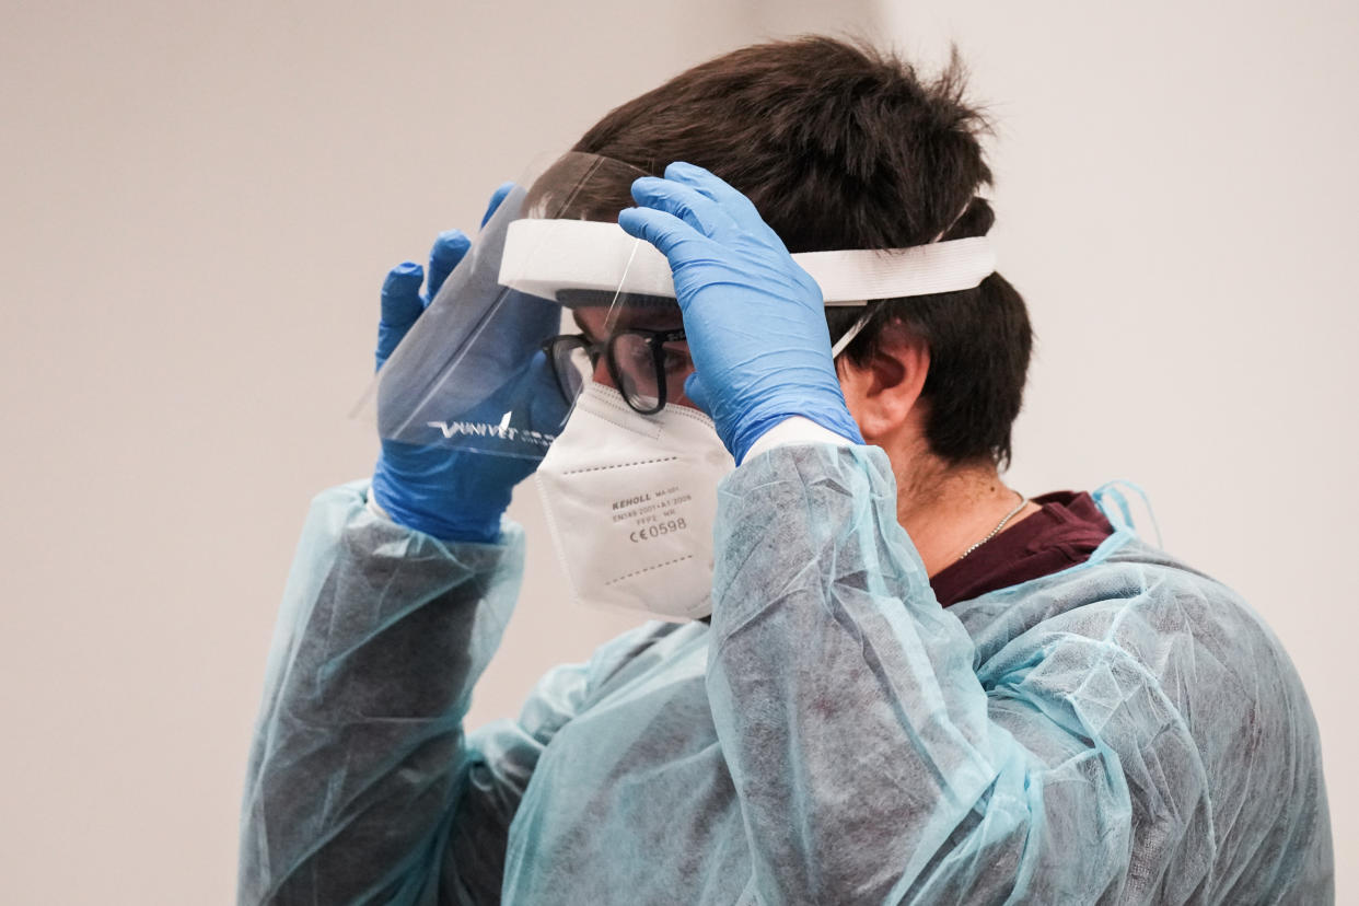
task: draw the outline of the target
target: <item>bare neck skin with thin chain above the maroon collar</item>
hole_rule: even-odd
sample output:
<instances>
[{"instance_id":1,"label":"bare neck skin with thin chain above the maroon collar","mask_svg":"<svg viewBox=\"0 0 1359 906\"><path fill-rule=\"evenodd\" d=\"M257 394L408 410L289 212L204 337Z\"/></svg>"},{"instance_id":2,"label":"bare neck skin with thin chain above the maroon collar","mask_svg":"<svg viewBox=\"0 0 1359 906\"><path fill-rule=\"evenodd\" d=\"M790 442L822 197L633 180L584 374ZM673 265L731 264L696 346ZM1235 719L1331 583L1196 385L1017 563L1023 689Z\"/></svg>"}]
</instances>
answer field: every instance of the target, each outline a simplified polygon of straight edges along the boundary
<instances>
[{"instance_id":1,"label":"bare neck skin with thin chain above the maroon collar","mask_svg":"<svg viewBox=\"0 0 1359 906\"><path fill-rule=\"evenodd\" d=\"M949 466L930 455L897 474L897 520L930 576L958 562L969 547L995 531L1019 500L989 463ZM1037 511L1037 504L1026 504L1006 528Z\"/></svg>"}]
</instances>

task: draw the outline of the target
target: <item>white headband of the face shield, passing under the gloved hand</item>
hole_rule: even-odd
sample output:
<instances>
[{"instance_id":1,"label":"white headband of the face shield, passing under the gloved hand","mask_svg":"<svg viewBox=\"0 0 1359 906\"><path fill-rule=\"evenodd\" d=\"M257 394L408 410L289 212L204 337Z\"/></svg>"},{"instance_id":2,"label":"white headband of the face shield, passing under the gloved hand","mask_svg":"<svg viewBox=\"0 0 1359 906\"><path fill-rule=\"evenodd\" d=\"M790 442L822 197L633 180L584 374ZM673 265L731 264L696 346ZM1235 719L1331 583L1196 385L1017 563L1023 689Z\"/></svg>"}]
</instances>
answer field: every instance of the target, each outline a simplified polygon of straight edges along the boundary
<instances>
[{"instance_id":1,"label":"white headband of the face shield, passing under the gloved hand","mask_svg":"<svg viewBox=\"0 0 1359 906\"><path fill-rule=\"evenodd\" d=\"M996 269L987 236L892 250L802 251L796 261L828 306L972 289ZM675 295L670 262L616 223L516 220L506 234L500 284L545 299L563 289Z\"/></svg>"}]
</instances>

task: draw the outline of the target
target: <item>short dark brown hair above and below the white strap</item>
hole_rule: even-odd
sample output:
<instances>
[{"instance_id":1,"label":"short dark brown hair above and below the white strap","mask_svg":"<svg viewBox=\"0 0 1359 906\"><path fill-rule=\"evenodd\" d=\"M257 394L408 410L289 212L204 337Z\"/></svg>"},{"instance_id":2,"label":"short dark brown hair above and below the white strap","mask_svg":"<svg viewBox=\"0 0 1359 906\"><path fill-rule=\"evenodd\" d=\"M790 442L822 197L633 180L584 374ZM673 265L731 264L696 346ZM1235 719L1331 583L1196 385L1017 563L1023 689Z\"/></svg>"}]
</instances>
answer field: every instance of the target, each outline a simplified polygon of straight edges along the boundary
<instances>
[{"instance_id":1,"label":"short dark brown hair above and below the white strap","mask_svg":"<svg viewBox=\"0 0 1359 906\"><path fill-rule=\"evenodd\" d=\"M995 216L991 183L954 54L934 80L867 46L807 37L742 48L610 111L576 143L660 174L707 167L745 193L790 251L898 249L980 236ZM610 193L612 194L612 193ZM609 219L631 198L594 198ZM961 215L959 215L961 212ZM862 308L830 308L832 337ZM866 364L883 327L904 323L930 345L925 439L950 463L1010 459L1031 329L1000 274L976 289L875 303L847 357Z\"/></svg>"}]
</instances>

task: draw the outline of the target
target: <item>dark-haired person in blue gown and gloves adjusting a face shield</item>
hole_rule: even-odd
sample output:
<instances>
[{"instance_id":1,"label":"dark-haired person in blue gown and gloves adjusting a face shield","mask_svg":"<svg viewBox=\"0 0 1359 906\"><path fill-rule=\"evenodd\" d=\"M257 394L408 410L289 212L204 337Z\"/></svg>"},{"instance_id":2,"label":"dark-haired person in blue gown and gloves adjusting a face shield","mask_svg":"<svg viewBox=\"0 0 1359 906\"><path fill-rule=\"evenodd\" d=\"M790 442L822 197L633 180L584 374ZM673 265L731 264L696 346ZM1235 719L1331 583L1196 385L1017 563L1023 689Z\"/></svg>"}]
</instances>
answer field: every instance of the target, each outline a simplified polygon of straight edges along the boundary
<instances>
[{"instance_id":1,"label":"dark-haired person in blue gown and gloves adjusting a face shield","mask_svg":"<svg viewBox=\"0 0 1359 906\"><path fill-rule=\"evenodd\" d=\"M1019 293L991 273L828 308L794 257L984 236L983 128L957 62L927 80L805 38L699 65L584 134L576 152L650 174L612 211L665 255L673 303L580 306L575 340L514 346L559 380L557 346L593 368L541 466L385 435L371 482L317 499L250 755L241 902L1333 901L1317 727L1263 619L1143 541L1117 488L1002 481ZM391 272L379 365L469 244L446 234L428 273ZM646 393L610 342L628 330L659 363ZM652 424L681 459L730 456L711 572L685 560L707 606L663 600L689 618L469 732L519 588L510 489L537 467L550 509L590 469L580 425L609 447ZM568 512L564 553L606 537ZM637 607L667 584L632 587L655 598Z\"/></svg>"}]
</instances>

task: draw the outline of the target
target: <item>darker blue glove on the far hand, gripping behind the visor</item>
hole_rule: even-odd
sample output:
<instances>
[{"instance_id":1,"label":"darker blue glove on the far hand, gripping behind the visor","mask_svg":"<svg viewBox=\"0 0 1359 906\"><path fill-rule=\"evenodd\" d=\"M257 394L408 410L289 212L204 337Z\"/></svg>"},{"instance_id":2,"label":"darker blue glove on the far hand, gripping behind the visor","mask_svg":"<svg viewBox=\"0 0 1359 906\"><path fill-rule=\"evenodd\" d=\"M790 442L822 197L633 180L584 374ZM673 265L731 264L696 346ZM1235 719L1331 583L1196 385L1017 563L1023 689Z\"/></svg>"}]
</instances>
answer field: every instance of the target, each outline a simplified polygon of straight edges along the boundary
<instances>
[{"instance_id":1,"label":"darker blue glove on the far hand, gripping behind the visor","mask_svg":"<svg viewBox=\"0 0 1359 906\"><path fill-rule=\"evenodd\" d=\"M512 183L496 190L481 225L485 225L508 194ZM378 323L378 368L414 326L439 287L458 266L472 242L461 231L439 234L429 250L428 280L420 265L404 262L391 269L382 285L382 321ZM425 292L420 292L421 281ZM504 375L504 395L511 395L523 382L544 384L545 401L560 398L552 372L531 330L515 337L520 367ZM450 338L454 341L455 338ZM507 357L510 360L515 356ZM496 394L501 395L501 394ZM488 412L503 409L497 401L485 403ZM552 405L545 403L545 405ZM500 516L510 505L516 484L533 473L535 462L510 456L482 455L440 446L419 446L400 440L382 440L382 454L372 474L371 493L394 522L443 541L493 542L500 537Z\"/></svg>"}]
</instances>

